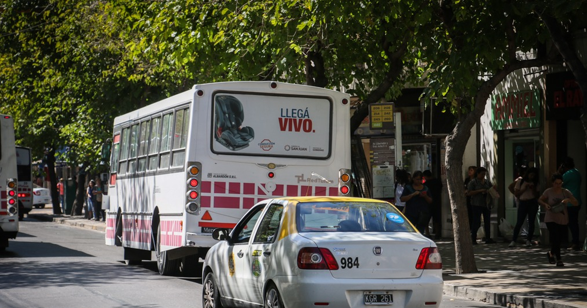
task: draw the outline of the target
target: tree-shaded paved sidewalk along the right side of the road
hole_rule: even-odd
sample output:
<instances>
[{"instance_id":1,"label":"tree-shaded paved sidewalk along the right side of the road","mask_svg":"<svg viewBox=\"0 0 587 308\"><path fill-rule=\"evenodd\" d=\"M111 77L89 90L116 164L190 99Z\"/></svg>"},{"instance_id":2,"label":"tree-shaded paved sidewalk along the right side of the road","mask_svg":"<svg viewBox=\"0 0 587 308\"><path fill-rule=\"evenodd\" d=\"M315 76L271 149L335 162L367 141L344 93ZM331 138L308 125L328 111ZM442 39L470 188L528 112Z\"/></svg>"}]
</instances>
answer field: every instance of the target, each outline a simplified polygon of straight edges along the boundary
<instances>
[{"instance_id":1,"label":"tree-shaded paved sidewalk along the right side of the road","mask_svg":"<svg viewBox=\"0 0 587 308\"><path fill-rule=\"evenodd\" d=\"M30 218L105 232L106 223L33 209ZM546 260L546 246L474 246L479 273L455 274L454 242L436 242L443 258L444 294L505 307L587 308L587 252L562 251L565 266ZM565 246L566 247L566 246Z\"/></svg>"}]
</instances>

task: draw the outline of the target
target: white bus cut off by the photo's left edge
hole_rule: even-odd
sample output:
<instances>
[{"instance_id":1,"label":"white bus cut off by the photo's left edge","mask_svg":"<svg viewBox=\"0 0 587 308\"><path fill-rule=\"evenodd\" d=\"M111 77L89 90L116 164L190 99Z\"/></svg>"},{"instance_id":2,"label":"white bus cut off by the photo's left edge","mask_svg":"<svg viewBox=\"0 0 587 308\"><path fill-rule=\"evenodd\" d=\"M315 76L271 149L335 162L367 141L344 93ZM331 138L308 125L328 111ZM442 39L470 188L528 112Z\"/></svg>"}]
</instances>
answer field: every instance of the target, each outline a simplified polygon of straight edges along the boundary
<instances>
[{"instance_id":1,"label":"white bus cut off by the photo's left edge","mask_svg":"<svg viewBox=\"0 0 587 308\"><path fill-rule=\"evenodd\" d=\"M0 114L0 251L18 233L18 178L14 119Z\"/></svg>"}]
</instances>

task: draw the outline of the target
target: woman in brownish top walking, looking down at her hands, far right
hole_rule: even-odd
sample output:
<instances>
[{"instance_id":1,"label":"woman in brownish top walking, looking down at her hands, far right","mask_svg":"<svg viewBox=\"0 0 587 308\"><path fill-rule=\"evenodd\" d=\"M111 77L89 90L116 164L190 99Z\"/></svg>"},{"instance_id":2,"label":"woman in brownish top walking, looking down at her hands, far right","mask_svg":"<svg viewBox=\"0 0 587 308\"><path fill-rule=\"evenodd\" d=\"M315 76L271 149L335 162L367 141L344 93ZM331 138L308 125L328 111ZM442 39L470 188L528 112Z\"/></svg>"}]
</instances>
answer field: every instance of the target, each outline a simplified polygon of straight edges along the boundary
<instances>
[{"instance_id":1,"label":"woman in brownish top walking, looking down at her hands, far right","mask_svg":"<svg viewBox=\"0 0 587 308\"><path fill-rule=\"evenodd\" d=\"M551 250L546 252L546 257L548 263L565 266L561 259L561 243L566 238L566 225L569 223L566 207L569 203L576 207L579 202L573 197L571 191L562 188L562 175L553 174L551 181L552 187L546 189L538 199L538 203L546 209L544 222L550 235Z\"/></svg>"}]
</instances>

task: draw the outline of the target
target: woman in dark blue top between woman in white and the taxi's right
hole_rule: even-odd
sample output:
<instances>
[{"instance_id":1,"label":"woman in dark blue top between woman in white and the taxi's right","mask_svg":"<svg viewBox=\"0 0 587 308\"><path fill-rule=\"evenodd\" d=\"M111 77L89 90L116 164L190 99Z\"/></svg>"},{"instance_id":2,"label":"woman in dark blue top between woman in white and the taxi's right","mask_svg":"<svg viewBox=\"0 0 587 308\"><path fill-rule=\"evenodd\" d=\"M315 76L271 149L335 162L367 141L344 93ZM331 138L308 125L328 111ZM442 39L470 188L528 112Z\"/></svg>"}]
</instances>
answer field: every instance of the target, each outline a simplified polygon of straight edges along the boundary
<instances>
[{"instance_id":1,"label":"woman in dark blue top between woman in white and the taxi's right","mask_svg":"<svg viewBox=\"0 0 587 308\"><path fill-rule=\"evenodd\" d=\"M424 234L430 221L430 204L434 196L428 195L428 188L422 184L422 171L416 171L411 176L411 184L404 187L400 200L406 202L406 218L420 233Z\"/></svg>"}]
</instances>

